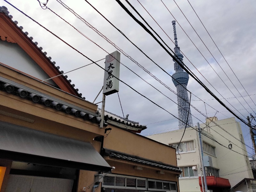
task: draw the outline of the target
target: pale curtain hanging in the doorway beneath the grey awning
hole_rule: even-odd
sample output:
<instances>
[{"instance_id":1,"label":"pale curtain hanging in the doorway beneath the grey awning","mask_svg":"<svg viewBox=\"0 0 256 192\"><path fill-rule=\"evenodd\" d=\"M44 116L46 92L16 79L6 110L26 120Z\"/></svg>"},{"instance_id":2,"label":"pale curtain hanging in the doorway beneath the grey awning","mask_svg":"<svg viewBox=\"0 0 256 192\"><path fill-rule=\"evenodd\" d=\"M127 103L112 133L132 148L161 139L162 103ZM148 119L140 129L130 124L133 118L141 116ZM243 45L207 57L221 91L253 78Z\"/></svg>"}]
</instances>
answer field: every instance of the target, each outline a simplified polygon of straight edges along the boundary
<instances>
[{"instance_id":1,"label":"pale curtain hanging in the doorway beneath the grey awning","mask_svg":"<svg viewBox=\"0 0 256 192\"><path fill-rule=\"evenodd\" d=\"M10 175L6 192L71 192L73 180Z\"/></svg>"}]
</instances>

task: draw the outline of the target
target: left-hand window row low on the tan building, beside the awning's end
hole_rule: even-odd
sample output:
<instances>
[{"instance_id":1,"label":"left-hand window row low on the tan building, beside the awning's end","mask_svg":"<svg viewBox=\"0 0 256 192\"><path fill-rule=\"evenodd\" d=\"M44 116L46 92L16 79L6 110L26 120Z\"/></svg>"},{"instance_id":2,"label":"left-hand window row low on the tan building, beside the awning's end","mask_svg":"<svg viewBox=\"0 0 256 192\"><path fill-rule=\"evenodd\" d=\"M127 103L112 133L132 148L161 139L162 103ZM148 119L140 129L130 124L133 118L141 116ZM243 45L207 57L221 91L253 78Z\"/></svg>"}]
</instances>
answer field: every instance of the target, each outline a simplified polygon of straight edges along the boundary
<instances>
[{"instance_id":1,"label":"left-hand window row low on the tan building, beside the awning's end","mask_svg":"<svg viewBox=\"0 0 256 192\"><path fill-rule=\"evenodd\" d=\"M102 186L116 188L136 188L146 190L146 178L135 178L120 175L106 175L103 177Z\"/></svg>"}]
</instances>

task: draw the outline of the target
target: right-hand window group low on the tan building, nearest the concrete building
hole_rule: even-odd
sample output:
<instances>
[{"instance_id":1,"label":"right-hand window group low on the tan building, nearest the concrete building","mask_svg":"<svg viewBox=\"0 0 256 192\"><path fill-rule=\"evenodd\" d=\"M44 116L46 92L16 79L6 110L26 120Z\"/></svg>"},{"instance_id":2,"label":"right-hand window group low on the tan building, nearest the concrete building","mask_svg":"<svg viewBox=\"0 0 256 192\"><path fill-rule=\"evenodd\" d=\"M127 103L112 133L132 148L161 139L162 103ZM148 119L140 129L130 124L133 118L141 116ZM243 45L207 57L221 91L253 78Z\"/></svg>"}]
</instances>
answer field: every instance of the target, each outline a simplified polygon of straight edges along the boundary
<instances>
[{"instance_id":1,"label":"right-hand window group low on the tan building, nearest the concrete building","mask_svg":"<svg viewBox=\"0 0 256 192\"><path fill-rule=\"evenodd\" d=\"M148 179L148 190L153 191L177 191L176 182Z\"/></svg>"}]
</instances>

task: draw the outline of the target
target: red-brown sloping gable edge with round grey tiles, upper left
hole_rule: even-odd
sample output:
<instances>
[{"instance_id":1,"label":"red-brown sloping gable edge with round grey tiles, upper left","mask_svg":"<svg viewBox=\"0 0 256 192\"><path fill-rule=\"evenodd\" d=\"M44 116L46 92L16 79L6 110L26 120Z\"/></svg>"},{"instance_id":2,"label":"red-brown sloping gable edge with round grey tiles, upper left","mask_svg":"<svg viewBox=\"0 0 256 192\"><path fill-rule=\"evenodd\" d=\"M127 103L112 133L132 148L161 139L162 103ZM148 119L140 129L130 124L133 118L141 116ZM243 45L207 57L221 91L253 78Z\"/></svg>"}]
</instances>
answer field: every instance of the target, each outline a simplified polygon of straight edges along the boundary
<instances>
[{"instance_id":1,"label":"red-brown sloping gable edge with round grey tiles, upper left","mask_svg":"<svg viewBox=\"0 0 256 192\"><path fill-rule=\"evenodd\" d=\"M32 41L33 37L28 37L28 32L23 32L23 27L18 27L17 24L17 21L12 20L7 8L0 6L0 40L18 44L49 77L61 75L59 69L54 66L55 62L51 61L52 58L47 57L47 53L42 52L42 47L37 47L37 42ZM78 89L75 89L75 85L71 85L71 81L68 81L65 76L61 75L52 80L62 91L81 97L82 94L77 92Z\"/></svg>"}]
</instances>

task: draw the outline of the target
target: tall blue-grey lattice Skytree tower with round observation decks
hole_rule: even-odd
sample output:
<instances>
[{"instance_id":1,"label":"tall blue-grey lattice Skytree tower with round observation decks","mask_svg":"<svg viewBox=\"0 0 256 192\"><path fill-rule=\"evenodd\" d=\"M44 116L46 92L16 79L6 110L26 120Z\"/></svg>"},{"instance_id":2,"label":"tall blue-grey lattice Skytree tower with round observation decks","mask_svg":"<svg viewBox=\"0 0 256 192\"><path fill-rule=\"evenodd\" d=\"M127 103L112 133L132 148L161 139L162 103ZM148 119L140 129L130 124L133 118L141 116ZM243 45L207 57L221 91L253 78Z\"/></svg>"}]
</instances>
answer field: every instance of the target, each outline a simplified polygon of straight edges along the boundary
<instances>
[{"instance_id":1,"label":"tall blue-grey lattice Skytree tower with round observation decks","mask_svg":"<svg viewBox=\"0 0 256 192\"><path fill-rule=\"evenodd\" d=\"M174 56L178 61L179 59L183 60L183 55L180 53L180 47L178 47L177 42L177 35L176 35L176 28L175 28L175 21L172 21L173 32L174 32L174 40L175 40L175 47L174 53L177 56ZM179 59L178 59L179 58ZM188 92L187 92L187 85L188 85L188 73L181 68L181 63L177 63L174 61L174 70L175 73L172 75L172 82L174 83L175 87L177 88L177 97L178 97L178 117L179 117L179 129L185 129L186 122L188 119L187 127L193 126L191 111L189 107L189 100L188 100ZM183 121L183 122L182 122Z\"/></svg>"}]
</instances>

